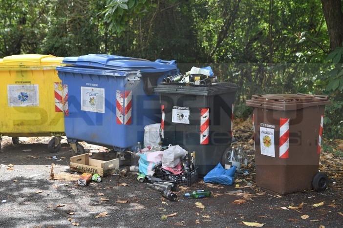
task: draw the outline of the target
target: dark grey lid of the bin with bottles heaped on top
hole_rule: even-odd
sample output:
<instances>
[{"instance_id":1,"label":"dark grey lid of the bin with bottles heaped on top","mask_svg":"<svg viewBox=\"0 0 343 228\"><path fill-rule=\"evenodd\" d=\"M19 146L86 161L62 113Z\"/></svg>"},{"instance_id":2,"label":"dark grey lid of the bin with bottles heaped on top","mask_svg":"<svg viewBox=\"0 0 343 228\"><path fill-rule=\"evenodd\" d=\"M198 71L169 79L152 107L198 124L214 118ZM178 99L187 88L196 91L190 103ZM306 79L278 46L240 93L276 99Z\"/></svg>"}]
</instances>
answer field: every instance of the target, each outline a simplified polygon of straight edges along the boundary
<instances>
[{"instance_id":1,"label":"dark grey lid of the bin with bottles heaped on top","mask_svg":"<svg viewBox=\"0 0 343 228\"><path fill-rule=\"evenodd\" d=\"M163 84L157 85L154 91L158 93L176 93L211 96L216 94L236 92L237 85L235 83L213 83L206 86Z\"/></svg>"}]
</instances>

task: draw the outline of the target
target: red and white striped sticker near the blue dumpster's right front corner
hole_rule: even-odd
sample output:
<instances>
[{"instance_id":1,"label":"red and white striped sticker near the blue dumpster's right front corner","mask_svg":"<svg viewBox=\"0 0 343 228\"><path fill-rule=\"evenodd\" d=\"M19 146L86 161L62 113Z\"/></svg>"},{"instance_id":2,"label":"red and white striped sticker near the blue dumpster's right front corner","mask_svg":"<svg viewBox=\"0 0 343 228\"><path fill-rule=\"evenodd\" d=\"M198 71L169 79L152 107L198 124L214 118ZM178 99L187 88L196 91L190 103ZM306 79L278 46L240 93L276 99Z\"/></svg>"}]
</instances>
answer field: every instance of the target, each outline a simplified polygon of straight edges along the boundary
<instances>
[{"instance_id":1,"label":"red and white striped sticker near the blue dumpster's right front corner","mask_svg":"<svg viewBox=\"0 0 343 228\"><path fill-rule=\"evenodd\" d=\"M131 124L132 122L132 92L117 90L117 124Z\"/></svg>"}]
</instances>

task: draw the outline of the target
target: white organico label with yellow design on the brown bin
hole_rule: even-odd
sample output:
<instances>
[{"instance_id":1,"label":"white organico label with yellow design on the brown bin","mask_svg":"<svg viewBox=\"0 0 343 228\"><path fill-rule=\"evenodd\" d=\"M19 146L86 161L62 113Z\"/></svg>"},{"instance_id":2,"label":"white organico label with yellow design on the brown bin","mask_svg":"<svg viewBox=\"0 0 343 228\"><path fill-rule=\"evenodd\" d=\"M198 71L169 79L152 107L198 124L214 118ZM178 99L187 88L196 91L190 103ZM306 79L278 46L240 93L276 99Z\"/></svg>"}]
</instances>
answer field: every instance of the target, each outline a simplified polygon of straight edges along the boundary
<instances>
[{"instance_id":1,"label":"white organico label with yellow design on the brown bin","mask_svg":"<svg viewBox=\"0 0 343 228\"><path fill-rule=\"evenodd\" d=\"M274 129L259 128L261 154L275 158Z\"/></svg>"}]
</instances>

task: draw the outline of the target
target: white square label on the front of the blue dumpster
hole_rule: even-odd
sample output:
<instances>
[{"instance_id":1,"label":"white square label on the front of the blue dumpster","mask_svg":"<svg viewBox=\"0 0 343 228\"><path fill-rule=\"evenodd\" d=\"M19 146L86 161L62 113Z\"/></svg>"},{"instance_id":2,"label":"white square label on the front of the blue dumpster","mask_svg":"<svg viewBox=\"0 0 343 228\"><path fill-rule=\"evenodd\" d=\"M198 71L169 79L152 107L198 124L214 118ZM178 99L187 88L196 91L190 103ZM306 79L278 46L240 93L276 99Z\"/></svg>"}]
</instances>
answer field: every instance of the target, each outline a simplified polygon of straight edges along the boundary
<instances>
[{"instance_id":1,"label":"white square label on the front of the blue dumpster","mask_svg":"<svg viewBox=\"0 0 343 228\"><path fill-rule=\"evenodd\" d=\"M105 113L105 89L81 86L81 110Z\"/></svg>"}]
</instances>

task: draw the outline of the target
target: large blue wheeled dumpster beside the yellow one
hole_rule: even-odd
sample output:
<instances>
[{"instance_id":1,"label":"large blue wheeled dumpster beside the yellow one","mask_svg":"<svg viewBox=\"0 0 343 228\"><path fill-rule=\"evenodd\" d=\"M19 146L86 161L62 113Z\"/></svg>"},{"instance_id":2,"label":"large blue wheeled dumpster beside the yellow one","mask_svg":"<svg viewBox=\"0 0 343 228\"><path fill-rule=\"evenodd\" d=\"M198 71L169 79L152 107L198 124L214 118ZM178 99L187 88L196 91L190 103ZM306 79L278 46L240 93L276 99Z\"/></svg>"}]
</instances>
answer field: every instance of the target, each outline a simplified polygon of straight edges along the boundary
<instances>
[{"instance_id":1,"label":"large blue wheeled dumpster beside the yellow one","mask_svg":"<svg viewBox=\"0 0 343 228\"><path fill-rule=\"evenodd\" d=\"M115 55L66 57L57 67L64 89L65 135L73 152L78 141L123 152L143 143L144 126L159 123L153 89L178 73L175 61L151 62Z\"/></svg>"}]
</instances>

